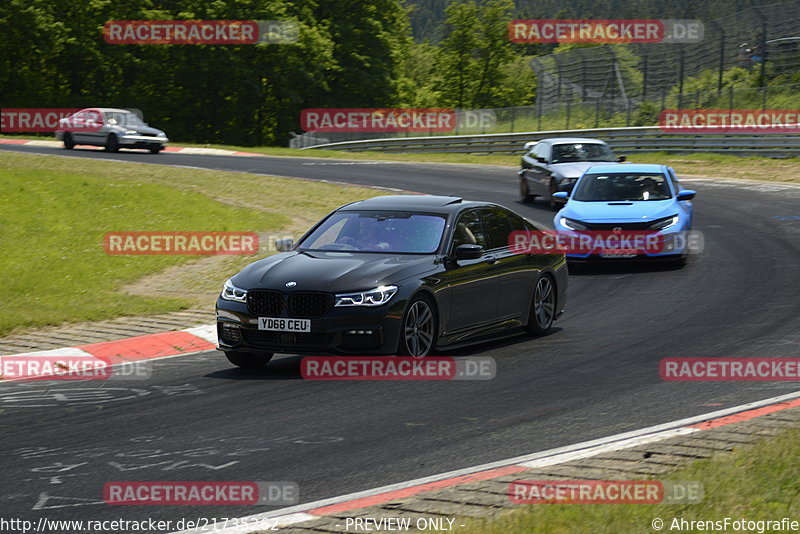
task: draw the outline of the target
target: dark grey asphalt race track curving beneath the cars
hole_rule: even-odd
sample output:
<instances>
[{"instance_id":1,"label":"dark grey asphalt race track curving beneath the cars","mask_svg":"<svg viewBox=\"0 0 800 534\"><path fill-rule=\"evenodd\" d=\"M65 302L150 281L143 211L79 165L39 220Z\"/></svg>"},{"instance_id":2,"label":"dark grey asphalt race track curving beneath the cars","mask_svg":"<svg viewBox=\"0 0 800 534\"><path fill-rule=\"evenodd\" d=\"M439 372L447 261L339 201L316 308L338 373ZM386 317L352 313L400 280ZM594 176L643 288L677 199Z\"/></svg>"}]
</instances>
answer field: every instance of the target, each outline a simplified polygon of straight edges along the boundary
<instances>
[{"instance_id":1,"label":"dark grey asphalt race track curving beneath the cars","mask_svg":"<svg viewBox=\"0 0 800 534\"><path fill-rule=\"evenodd\" d=\"M509 168L0 148L453 194L534 221L553 217L544 202L517 200ZM147 381L3 384L2 515L249 515L267 509L114 507L102 489L124 480L293 481L309 502L797 390L792 382L659 378L665 357L800 356L800 188L686 186L698 191L695 230L705 251L683 269L582 270L570 276L567 312L552 334L448 354L495 358L494 380L309 382L298 356L249 374L207 352L157 361Z\"/></svg>"}]
</instances>

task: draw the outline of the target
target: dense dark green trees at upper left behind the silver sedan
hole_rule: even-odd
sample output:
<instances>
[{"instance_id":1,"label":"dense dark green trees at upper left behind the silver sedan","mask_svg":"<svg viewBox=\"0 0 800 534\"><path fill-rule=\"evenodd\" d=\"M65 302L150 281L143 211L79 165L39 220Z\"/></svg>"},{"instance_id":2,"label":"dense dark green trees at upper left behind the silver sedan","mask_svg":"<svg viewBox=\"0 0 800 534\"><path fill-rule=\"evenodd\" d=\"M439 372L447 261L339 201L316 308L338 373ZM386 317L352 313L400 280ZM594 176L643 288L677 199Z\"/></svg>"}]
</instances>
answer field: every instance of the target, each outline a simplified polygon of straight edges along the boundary
<instances>
[{"instance_id":1,"label":"dense dark green trees at upper left behind the silver sedan","mask_svg":"<svg viewBox=\"0 0 800 534\"><path fill-rule=\"evenodd\" d=\"M284 20L292 44L119 45L112 20ZM173 139L286 142L308 107L399 102L407 13L400 0L0 3L3 107L142 109Z\"/></svg>"}]
</instances>

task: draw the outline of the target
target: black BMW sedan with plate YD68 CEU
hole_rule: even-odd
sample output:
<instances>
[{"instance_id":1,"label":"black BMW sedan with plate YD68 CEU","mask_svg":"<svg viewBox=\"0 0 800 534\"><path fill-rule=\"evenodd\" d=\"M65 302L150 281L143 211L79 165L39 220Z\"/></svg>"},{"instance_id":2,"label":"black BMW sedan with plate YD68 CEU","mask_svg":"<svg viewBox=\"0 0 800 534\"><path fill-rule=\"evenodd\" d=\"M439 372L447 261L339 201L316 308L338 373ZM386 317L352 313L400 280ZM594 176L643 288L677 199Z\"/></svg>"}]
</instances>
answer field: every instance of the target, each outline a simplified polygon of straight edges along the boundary
<instances>
[{"instance_id":1,"label":"black BMW sedan with plate YD68 CEU","mask_svg":"<svg viewBox=\"0 0 800 534\"><path fill-rule=\"evenodd\" d=\"M343 206L296 244L225 282L219 350L240 367L276 352L426 356L436 348L528 332L564 309L561 254L519 254L536 231L496 204L382 196Z\"/></svg>"}]
</instances>

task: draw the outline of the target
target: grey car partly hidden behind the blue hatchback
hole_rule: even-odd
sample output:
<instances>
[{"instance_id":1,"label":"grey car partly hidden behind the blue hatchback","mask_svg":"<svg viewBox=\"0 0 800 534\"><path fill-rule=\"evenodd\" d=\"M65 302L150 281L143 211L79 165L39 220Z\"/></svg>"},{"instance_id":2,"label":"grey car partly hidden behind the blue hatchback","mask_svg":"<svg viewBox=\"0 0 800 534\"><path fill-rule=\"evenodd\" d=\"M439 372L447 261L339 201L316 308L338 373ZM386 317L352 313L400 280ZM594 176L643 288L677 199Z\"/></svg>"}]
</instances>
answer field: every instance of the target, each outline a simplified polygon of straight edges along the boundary
<instances>
[{"instance_id":1,"label":"grey car partly hidden behind the blue hatchback","mask_svg":"<svg viewBox=\"0 0 800 534\"><path fill-rule=\"evenodd\" d=\"M600 139L564 137L542 139L525 145L519 174L519 196L523 202L545 197L551 208L564 202L553 193L570 191L578 178L592 165L625 161L616 157Z\"/></svg>"}]
</instances>

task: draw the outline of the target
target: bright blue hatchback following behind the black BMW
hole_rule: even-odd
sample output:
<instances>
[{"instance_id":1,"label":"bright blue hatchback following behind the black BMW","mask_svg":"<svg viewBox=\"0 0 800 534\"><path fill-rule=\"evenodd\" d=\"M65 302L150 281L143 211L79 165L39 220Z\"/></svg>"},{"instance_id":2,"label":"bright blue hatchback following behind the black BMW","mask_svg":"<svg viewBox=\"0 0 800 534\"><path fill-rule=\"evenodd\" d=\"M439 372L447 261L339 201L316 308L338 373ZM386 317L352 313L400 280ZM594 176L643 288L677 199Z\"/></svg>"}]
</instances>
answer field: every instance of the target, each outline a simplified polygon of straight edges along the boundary
<instances>
[{"instance_id":1,"label":"bright blue hatchback following behind the black BMW","mask_svg":"<svg viewBox=\"0 0 800 534\"><path fill-rule=\"evenodd\" d=\"M567 259L656 258L685 262L692 229L692 202L696 192L683 189L675 171L665 165L595 165L587 169L571 192L553 196L567 200L555 216L561 235L642 233L659 247L614 250L582 247ZM622 252L622 253L620 253Z\"/></svg>"}]
</instances>

